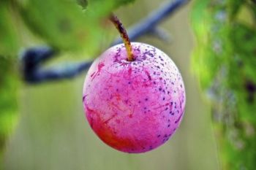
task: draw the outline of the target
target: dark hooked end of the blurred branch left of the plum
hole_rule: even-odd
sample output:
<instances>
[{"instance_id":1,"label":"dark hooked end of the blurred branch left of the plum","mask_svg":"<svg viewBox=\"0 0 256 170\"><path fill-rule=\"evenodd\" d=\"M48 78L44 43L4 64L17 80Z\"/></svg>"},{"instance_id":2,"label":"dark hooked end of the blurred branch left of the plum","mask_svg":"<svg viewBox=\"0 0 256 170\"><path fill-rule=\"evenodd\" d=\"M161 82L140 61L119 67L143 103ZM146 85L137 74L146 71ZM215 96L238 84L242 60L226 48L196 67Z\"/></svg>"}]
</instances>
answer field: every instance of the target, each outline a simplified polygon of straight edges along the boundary
<instances>
[{"instance_id":1,"label":"dark hooked end of the blurred branch left of the plum","mask_svg":"<svg viewBox=\"0 0 256 170\"><path fill-rule=\"evenodd\" d=\"M21 56L23 78L29 83L72 78L88 69L93 61L69 63L54 66L53 69L42 69L42 63L56 56L58 51L50 47L34 47L26 50Z\"/></svg>"}]
</instances>

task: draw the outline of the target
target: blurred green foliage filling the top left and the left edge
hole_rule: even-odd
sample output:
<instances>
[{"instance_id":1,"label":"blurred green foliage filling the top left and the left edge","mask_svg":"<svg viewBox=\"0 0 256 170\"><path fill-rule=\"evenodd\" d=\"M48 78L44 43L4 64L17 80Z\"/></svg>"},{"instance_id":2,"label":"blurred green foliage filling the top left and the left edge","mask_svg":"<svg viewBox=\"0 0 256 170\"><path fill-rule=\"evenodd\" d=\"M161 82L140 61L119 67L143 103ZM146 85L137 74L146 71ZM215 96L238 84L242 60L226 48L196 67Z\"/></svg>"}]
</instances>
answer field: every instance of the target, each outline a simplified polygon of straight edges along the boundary
<instances>
[{"instance_id":1,"label":"blurred green foliage filling the top left and the left edge","mask_svg":"<svg viewBox=\"0 0 256 170\"><path fill-rule=\"evenodd\" d=\"M0 1L0 155L18 117L16 56L27 38L24 28L51 47L88 56L110 30L109 13L132 1Z\"/></svg>"}]
</instances>

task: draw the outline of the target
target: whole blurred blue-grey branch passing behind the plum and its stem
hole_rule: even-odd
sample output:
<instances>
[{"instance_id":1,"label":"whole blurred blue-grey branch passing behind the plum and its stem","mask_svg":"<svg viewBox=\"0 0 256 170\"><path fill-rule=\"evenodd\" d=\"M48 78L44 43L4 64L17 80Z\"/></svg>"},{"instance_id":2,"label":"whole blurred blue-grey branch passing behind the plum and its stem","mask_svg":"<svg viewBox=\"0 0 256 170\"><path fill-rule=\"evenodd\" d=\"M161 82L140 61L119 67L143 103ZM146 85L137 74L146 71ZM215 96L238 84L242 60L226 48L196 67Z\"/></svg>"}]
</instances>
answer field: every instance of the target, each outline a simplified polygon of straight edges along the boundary
<instances>
[{"instance_id":1,"label":"whole blurred blue-grey branch passing behind the plum and its stem","mask_svg":"<svg viewBox=\"0 0 256 170\"><path fill-rule=\"evenodd\" d=\"M132 28L129 28L129 39L134 41L140 36L152 34L163 38L165 31L158 28L165 18L173 14L179 7L187 4L189 0L166 1L159 9L151 12L147 18L141 20ZM166 40L162 39L162 40ZM122 43L120 38L116 39L111 46ZM54 66L53 69L42 69L42 63L53 58L58 51L50 47L34 47L22 53L20 61L22 65L23 79L29 83L46 82L50 80L63 80L78 76L86 71L93 61L83 63L70 63L68 66Z\"/></svg>"}]
</instances>

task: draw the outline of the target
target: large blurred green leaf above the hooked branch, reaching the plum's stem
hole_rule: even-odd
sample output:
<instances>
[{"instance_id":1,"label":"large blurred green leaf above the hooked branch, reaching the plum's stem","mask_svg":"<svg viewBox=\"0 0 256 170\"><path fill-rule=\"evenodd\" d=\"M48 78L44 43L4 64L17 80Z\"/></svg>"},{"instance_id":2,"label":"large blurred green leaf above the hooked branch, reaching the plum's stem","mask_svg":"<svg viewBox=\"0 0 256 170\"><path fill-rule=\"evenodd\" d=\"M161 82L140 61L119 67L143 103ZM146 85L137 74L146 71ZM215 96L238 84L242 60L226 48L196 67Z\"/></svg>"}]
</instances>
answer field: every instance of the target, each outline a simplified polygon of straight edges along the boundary
<instances>
[{"instance_id":1,"label":"large blurred green leaf above the hooked branch, reaching the plum's stem","mask_svg":"<svg viewBox=\"0 0 256 170\"><path fill-rule=\"evenodd\" d=\"M20 3L20 12L27 26L50 46L61 50L95 53L102 36L109 34L107 20L110 12L129 1L28 0ZM91 52L91 53L90 53Z\"/></svg>"}]
</instances>

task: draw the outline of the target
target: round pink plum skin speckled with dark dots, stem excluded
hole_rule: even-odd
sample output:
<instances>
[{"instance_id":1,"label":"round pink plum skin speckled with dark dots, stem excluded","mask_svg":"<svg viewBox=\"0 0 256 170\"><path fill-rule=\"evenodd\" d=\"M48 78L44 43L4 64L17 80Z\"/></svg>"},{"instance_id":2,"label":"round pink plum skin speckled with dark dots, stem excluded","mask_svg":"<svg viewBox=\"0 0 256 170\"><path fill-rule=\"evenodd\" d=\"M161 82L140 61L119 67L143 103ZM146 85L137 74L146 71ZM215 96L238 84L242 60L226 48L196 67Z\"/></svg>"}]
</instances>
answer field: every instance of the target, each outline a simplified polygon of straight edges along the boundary
<instances>
[{"instance_id":1,"label":"round pink plum skin speckled with dark dots, stem excluded","mask_svg":"<svg viewBox=\"0 0 256 170\"><path fill-rule=\"evenodd\" d=\"M132 42L94 61L83 86L83 107L93 131L110 147L139 153L165 143L184 115L186 94L177 66L161 50Z\"/></svg>"}]
</instances>

